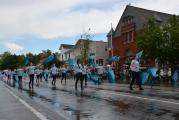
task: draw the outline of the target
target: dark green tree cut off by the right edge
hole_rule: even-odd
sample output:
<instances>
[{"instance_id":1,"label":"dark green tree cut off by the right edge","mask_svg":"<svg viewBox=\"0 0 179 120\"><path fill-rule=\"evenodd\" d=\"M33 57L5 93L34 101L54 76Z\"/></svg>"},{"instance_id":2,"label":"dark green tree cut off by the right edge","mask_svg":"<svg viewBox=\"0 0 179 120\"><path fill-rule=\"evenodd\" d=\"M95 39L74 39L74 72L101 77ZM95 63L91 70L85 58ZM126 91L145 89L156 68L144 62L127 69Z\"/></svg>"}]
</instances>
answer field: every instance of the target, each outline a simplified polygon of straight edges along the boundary
<instances>
[{"instance_id":1,"label":"dark green tree cut off by the right edge","mask_svg":"<svg viewBox=\"0 0 179 120\"><path fill-rule=\"evenodd\" d=\"M163 26L163 39L167 61L174 65L179 60L179 17L172 16Z\"/></svg>"}]
</instances>

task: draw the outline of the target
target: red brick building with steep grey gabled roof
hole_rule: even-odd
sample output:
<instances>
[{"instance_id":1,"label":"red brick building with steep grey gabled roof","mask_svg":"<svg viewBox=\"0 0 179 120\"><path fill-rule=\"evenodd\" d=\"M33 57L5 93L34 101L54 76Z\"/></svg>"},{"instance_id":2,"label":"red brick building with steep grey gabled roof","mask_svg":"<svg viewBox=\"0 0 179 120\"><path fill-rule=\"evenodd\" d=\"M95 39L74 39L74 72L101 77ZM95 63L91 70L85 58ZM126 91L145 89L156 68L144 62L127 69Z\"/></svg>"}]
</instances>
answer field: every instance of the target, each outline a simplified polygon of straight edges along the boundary
<instances>
[{"instance_id":1,"label":"red brick building with steep grey gabled roof","mask_svg":"<svg viewBox=\"0 0 179 120\"><path fill-rule=\"evenodd\" d=\"M110 30L107 35L109 43L112 35L113 54L120 56L120 63L129 63L138 52L136 34L142 30L150 17L154 17L157 23L163 24L171 16L171 14L127 5L116 29L112 33Z\"/></svg>"}]
</instances>

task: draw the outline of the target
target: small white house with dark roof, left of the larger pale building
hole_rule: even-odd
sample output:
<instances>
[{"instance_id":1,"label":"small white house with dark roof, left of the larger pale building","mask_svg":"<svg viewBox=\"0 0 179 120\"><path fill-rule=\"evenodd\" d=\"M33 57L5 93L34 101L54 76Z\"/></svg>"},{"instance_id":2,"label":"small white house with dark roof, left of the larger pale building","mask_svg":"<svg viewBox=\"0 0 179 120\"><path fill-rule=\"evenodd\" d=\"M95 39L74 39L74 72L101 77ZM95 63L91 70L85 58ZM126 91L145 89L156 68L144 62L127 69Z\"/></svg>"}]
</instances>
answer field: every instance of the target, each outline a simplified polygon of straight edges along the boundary
<instances>
[{"instance_id":1,"label":"small white house with dark roof, left of the larger pale building","mask_svg":"<svg viewBox=\"0 0 179 120\"><path fill-rule=\"evenodd\" d=\"M69 52L71 49L73 49L74 45L69 45L69 44L61 44L60 45L60 55L59 55L59 60L60 61L66 61L69 58L73 57L71 52Z\"/></svg>"}]
</instances>

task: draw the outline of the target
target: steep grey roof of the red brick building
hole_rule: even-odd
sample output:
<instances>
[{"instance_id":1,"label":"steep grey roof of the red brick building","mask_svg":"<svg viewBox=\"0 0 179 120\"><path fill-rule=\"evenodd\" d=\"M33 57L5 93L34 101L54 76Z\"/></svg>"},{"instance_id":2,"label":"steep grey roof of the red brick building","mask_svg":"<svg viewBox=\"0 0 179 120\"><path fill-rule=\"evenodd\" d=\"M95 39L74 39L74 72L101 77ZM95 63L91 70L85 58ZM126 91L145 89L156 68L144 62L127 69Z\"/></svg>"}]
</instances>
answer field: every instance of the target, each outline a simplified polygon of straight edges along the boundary
<instances>
[{"instance_id":1,"label":"steep grey roof of the red brick building","mask_svg":"<svg viewBox=\"0 0 179 120\"><path fill-rule=\"evenodd\" d=\"M127 5L115 29L114 37L121 35L121 26L123 24L123 19L127 17L132 17L133 22L135 23L135 30L140 30L147 23L150 17L155 17L157 21L165 23L171 16L172 14Z\"/></svg>"}]
</instances>

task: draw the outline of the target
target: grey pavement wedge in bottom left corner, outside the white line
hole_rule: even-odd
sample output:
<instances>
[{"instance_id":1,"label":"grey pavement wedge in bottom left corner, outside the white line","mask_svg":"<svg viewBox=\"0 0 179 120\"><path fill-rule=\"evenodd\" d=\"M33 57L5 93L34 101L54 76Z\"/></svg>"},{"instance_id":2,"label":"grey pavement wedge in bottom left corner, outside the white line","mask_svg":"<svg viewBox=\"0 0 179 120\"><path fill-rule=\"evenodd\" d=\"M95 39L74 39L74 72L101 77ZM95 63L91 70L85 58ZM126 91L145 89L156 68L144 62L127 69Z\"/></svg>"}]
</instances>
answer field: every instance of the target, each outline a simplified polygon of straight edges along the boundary
<instances>
[{"instance_id":1,"label":"grey pavement wedge in bottom left corner, outside the white line","mask_svg":"<svg viewBox=\"0 0 179 120\"><path fill-rule=\"evenodd\" d=\"M41 120L0 81L0 120Z\"/></svg>"}]
</instances>

